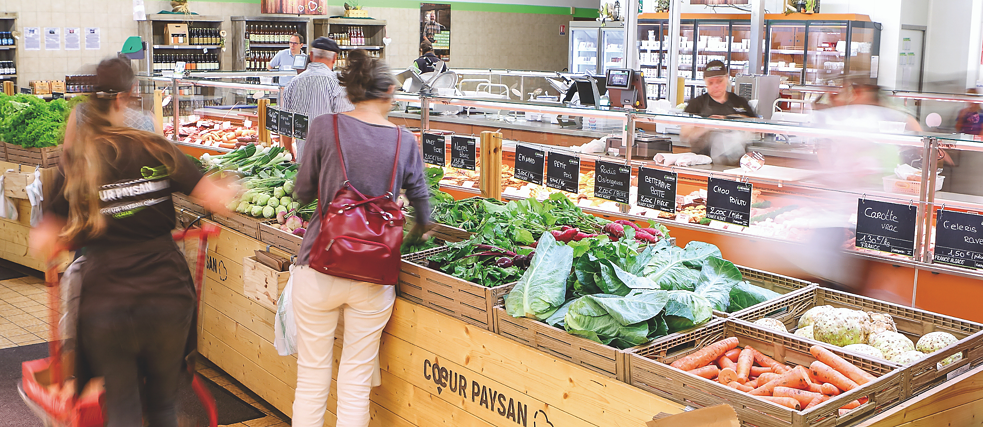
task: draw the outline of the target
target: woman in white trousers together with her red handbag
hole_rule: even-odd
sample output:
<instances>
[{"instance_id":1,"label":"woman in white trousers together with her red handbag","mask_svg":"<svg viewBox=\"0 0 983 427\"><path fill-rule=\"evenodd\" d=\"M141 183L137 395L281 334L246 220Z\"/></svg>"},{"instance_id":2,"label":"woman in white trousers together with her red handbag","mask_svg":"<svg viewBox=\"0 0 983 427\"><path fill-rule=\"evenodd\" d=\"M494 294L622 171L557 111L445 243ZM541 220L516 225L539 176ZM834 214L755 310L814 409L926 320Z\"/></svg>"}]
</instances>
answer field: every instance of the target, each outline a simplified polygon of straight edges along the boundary
<instances>
[{"instance_id":1,"label":"woman in white trousers together with her red handbag","mask_svg":"<svg viewBox=\"0 0 983 427\"><path fill-rule=\"evenodd\" d=\"M381 60L352 51L339 80L355 109L315 118L294 194L320 200L293 270L297 390L293 426L324 425L335 329L344 316L337 425L369 424L369 391L382 329L396 299L403 215L413 204L418 239L429 221L429 191L416 138L390 123L396 80Z\"/></svg>"}]
</instances>

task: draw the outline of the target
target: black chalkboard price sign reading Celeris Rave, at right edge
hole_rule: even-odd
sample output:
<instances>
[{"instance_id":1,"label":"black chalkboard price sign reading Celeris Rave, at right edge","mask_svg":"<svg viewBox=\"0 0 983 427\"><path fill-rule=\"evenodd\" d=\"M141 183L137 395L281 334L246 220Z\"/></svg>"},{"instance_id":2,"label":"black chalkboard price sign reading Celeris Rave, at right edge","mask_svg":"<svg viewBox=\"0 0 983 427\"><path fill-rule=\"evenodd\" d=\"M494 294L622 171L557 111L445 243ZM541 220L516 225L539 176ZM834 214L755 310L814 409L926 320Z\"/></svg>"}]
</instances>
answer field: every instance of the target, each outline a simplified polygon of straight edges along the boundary
<instances>
[{"instance_id":1,"label":"black chalkboard price sign reading Celeris Rave, at right edge","mask_svg":"<svg viewBox=\"0 0 983 427\"><path fill-rule=\"evenodd\" d=\"M933 261L983 268L983 215L937 210Z\"/></svg>"}]
</instances>

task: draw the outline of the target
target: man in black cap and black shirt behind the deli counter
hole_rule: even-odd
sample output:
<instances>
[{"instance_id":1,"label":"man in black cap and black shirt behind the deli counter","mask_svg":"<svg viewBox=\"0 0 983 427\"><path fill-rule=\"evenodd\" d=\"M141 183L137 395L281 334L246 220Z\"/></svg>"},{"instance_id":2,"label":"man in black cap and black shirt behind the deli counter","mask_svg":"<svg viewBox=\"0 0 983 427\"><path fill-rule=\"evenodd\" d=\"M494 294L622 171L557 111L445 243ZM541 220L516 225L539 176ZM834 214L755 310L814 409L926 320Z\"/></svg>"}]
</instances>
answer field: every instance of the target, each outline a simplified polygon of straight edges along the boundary
<instances>
[{"instance_id":1,"label":"man in black cap and black shirt behind the deli counter","mask_svg":"<svg viewBox=\"0 0 983 427\"><path fill-rule=\"evenodd\" d=\"M707 93L691 99L684 111L715 119L757 117L746 99L727 90L729 76L723 62L710 61L703 71ZM683 126L680 137L689 143L692 152L710 156L714 163L723 165L738 164L748 142L747 134L743 132L706 126Z\"/></svg>"}]
</instances>

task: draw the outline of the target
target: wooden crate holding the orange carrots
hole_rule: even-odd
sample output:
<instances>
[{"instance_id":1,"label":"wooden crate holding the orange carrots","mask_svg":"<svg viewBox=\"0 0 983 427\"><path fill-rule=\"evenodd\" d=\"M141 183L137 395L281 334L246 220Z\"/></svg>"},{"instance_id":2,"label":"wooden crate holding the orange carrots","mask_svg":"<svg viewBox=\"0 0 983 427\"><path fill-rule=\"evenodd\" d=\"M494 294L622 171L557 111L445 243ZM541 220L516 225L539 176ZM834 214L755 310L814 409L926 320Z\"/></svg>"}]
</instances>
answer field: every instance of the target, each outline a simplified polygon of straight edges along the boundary
<instances>
[{"instance_id":1,"label":"wooden crate holding the orange carrots","mask_svg":"<svg viewBox=\"0 0 983 427\"><path fill-rule=\"evenodd\" d=\"M720 403L731 405L737 411L742 425L758 427L853 425L905 399L901 370L891 364L839 351L835 347L831 349L834 353L878 378L808 411L796 411L773 404L669 366L676 359L729 337L737 337L741 347L750 345L788 365L809 366L815 361L809 353L813 343L808 340L761 329L733 318L722 319L628 354L630 383L666 399L697 408ZM843 415L839 414L840 407L864 396L869 399L867 403Z\"/></svg>"}]
</instances>

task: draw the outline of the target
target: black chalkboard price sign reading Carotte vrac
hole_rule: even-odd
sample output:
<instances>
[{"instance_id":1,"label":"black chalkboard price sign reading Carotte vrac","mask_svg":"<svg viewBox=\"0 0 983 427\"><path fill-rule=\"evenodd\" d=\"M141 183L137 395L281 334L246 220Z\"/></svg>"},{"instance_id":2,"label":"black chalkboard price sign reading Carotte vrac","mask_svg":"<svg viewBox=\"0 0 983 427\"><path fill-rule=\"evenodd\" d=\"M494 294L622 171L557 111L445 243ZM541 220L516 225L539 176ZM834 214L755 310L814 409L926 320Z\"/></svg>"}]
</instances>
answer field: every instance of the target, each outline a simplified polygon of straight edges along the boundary
<instances>
[{"instance_id":1,"label":"black chalkboard price sign reading Carotte vrac","mask_svg":"<svg viewBox=\"0 0 983 427\"><path fill-rule=\"evenodd\" d=\"M915 255L915 205L861 199L857 202L857 247Z\"/></svg>"}]
</instances>

